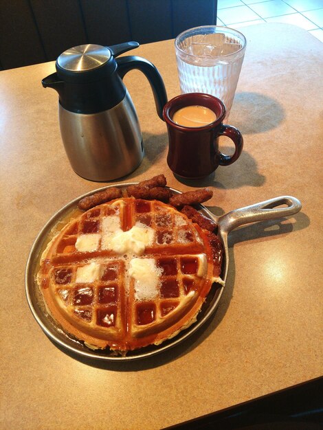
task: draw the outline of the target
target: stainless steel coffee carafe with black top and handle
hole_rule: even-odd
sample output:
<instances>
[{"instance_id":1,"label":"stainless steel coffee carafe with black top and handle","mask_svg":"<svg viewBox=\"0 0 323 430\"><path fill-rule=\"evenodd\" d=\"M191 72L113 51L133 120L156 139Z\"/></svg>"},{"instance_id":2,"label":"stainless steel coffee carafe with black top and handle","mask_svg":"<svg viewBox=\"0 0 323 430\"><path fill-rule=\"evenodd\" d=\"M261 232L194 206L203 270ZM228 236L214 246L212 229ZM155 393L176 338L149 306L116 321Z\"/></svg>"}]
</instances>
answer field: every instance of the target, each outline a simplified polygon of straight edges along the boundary
<instances>
[{"instance_id":1,"label":"stainless steel coffee carafe with black top and handle","mask_svg":"<svg viewBox=\"0 0 323 430\"><path fill-rule=\"evenodd\" d=\"M56 72L42 80L59 95L60 133L74 171L91 181L110 181L131 173L144 156L135 106L122 79L139 69L151 84L157 114L167 102L164 82L144 58L123 56L137 42L104 47L80 45L56 60Z\"/></svg>"}]
</instances>

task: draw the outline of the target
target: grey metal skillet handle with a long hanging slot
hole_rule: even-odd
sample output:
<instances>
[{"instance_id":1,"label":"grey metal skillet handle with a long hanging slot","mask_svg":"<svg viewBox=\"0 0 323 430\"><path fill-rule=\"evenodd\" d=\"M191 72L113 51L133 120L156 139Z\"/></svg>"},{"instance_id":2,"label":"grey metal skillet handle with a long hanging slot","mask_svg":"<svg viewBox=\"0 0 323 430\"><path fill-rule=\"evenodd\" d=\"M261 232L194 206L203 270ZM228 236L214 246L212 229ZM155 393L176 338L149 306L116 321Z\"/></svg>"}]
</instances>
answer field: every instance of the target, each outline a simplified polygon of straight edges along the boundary
<instances>
[{"instance_id":1,"label":"grey metal skillet handle with a long hanging slot","mask_svg":"<svg viewBox=\"0 0 323 430\"><path fill-rule=\"evenodd\" d=\"M278 207L280 205L287 205L287 207ZM302 204L295 197L280 196L232 210L220 216L218 223L221 231L229 233L229 231L236 229L240 225L297 214L301 208Z\"/></svg>"}]
</instances>

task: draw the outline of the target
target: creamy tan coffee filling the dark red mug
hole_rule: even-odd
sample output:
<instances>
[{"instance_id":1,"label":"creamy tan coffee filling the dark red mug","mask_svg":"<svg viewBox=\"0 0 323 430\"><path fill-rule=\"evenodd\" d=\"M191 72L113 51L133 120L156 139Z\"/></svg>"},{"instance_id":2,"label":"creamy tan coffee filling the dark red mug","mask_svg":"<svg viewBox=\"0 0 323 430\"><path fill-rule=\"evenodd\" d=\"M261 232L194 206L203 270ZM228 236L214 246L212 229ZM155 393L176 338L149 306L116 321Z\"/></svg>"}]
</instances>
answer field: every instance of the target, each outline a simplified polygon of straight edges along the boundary
<instances>
[{"instance_id":1,"label":"creamy tan coffee filling the dark red mug","mask_svg":"<svg viewBox=\"0 0 323 430\"><path fill-rule=\"evenodd\" d=\"M185 106L174 113L172 120L184 127L202 127L216 120L215 113L206 106Z\"/></svg>"}]
</instances>

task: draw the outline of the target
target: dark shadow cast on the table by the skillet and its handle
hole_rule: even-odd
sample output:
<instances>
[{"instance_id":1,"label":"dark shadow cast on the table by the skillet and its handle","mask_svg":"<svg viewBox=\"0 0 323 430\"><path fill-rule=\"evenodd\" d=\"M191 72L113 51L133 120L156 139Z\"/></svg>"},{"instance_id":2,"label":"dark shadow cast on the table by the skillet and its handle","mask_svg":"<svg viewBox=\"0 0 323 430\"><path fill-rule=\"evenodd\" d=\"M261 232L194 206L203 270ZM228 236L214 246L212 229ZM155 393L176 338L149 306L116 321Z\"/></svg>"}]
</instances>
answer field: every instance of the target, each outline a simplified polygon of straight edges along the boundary
<instances>
[{"instance_id":1,"label":"dark shadow cast on the table by the skillet and its handle","mask_svg":"<svg viewBox=\"0 0 323 430\"><path fill-rule=\"evenodd\" d=\"M230 306L234 291L234 282L236 278L236 268L234 262L234 245L243 240L262 240L263 238L274 238L275 236L282 234L289 234L291 231L296 231L298 229L305 229L309 226L309 218L306 214L299 212L290 218L279 218L276 220L262 221L259 223L253 223L252 225L247 225L245 227L240 227L236 231L232 231L229 236L229 271L227 273L226 286L223 289L223 294L219 302L219 307L217 308L214 315L205 321L205 324L194 332L188 339L183 340L181 343L173 346L169 350L160 352L151 357L146 357L142 359L135 359L131 361L99 361L96 359L89 359L86 357L81 357L73 352L69 352L58 345L55 345L65 354L69 355L86 365L92 367L97 367L100 369L107 369L115 372L138 372L141 370L148 370L153 367L159 367L161 365L166 365L170 361L179 359L185 356L194 348L199 346L200 343L208 339L216 327L219 326L227 309Z\"/></svg>"}]
</instances>

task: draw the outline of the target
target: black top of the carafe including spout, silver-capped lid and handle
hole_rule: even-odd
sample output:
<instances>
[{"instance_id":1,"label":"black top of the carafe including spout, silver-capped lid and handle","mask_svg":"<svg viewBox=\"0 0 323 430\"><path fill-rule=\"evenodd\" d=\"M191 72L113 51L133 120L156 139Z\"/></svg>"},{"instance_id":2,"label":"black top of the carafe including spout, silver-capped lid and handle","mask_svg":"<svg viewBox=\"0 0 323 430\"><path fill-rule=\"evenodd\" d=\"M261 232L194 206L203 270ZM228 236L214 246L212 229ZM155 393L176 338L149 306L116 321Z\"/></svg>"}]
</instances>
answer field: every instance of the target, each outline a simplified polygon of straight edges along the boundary
<instances>
[{"instance_id":1,"label":"black top of the carafe including spout, silver-capped lid and handle","mask_svg":"<svg viewBox=\"0 0 323 430\"><path fill-rule=\"evenodd\" d=\"M55 89L60 105L74 113L98 113L119 104L126 94L122 82L124 75L138 69L148 78L153 88L159 117L167 101L164 82L156 67L137 56L124 56L139 46L137 42L125 42L104 47L79 45L67 49L56 60L56 73L42 80L43 87Z\"/></svg>"}]
</instances>

